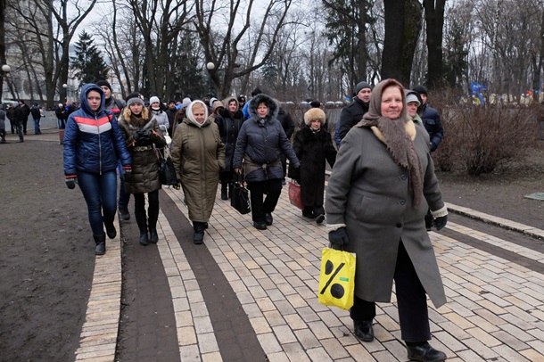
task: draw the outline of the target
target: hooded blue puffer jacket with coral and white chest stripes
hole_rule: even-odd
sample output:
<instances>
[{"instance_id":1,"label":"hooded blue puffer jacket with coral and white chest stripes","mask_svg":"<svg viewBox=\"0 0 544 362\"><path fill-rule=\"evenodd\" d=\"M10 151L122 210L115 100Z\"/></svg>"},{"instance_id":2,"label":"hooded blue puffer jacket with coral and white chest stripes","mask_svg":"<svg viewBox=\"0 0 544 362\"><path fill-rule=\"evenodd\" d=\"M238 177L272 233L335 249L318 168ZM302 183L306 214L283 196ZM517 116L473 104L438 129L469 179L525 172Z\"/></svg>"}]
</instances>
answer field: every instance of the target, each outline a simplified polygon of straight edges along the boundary
<instances>
[{"instance_id":1,"label":"hooded blue puffer jacket with coral and white chest stripes","mask_svg":"<svg viewBox=\"0 0 544 362\"><path fill-rule=\"evenodd\" d=\"M98 111L91 111L87 93L94 90L102 95ZM131 159L117 119L104 109L104 95L100 86L89 83L81 89L81 108L70 114L64 132L64 175L78 172L102 174L116 169L118 160L123 166Z\"/></svg>"}]
</instances>

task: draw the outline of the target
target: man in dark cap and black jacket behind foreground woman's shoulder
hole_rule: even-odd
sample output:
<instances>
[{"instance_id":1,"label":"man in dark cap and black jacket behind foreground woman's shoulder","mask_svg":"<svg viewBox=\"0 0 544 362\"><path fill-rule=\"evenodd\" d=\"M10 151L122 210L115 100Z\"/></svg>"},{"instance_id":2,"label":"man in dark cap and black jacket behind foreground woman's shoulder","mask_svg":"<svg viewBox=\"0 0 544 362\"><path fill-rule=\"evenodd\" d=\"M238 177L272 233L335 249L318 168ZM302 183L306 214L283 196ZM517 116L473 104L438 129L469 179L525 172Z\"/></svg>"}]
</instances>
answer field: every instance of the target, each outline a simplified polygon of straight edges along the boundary
<instances>
[{"instance_id":1,"label":"man in dark cap and black jacket behind foreground woman's shoulder","mask_svg":"<svg viewBox=\"0 0 544 362\"><path fill-rule=\"evenodd\" d=\"M355 86L353 102L342 109L340 118L336 123L336 129L334 130L334 141L336 141L336 146L338 148L340 148L343 137L345 137L348 134L348 131L359 123L359 120L363 119L363 116L367 113L371 93L372 88L367 82L360 82Z\"/></svg>"}]
</instances>

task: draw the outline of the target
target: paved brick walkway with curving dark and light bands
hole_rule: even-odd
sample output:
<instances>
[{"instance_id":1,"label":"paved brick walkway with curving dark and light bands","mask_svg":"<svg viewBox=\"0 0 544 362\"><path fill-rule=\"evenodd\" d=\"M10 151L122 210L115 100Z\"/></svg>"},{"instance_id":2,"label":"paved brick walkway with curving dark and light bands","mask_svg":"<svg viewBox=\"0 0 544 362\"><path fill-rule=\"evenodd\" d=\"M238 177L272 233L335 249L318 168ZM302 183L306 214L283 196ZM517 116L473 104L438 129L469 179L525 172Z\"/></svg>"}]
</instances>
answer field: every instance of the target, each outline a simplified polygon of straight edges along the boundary
<instances>
[{"instance_id":1,"label":"paved brick walkway with curving dark and light bands","mask_svg":"<svg viewBox=\"0 0 544 362\"><path fill-rule=\"evenodd\" d=\"M429 304L433 346L450 361L544 361L544 232L449 209L471 218L452 213L430 233L448 297ZM164 189L159 243L137 245L132 222L124 243L96 258L76 360L112 361L116 348L121 360L145 361L407 360L394 295L378 305L370 343L353 336L348 312L317 302L326 226L302 218L286 187L266 231L218 198L197 246L186 216L183 194ZM133 262L123 260L123 288L136 290L123 303L130 323L120 317L121 246Z\"/></svg>"}]
</instances>

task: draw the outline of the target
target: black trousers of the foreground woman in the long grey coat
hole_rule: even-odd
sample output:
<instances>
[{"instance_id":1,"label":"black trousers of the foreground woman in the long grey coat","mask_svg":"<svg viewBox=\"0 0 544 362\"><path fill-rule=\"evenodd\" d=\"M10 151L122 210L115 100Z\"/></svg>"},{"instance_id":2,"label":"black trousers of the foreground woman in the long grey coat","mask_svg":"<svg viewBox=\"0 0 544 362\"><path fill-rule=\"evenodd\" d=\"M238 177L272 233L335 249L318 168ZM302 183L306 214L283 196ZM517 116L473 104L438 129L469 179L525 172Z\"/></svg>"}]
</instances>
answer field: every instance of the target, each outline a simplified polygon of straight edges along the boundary
<instances>
[{"instance_id":1,"label":"black trousers of the foreground woman in the long grey coat","mask_svg":"<svg viewBox=\"0 0 544 362\"><path fill-rule=\"evenodd\" d=\"M400 338L410 342L429 341L431 327L425 290L402 242L399 243L394 280L399 305ZM375 302L355 297L350 317L359 321L374 319Z\"/></svg>"}]
</instances>

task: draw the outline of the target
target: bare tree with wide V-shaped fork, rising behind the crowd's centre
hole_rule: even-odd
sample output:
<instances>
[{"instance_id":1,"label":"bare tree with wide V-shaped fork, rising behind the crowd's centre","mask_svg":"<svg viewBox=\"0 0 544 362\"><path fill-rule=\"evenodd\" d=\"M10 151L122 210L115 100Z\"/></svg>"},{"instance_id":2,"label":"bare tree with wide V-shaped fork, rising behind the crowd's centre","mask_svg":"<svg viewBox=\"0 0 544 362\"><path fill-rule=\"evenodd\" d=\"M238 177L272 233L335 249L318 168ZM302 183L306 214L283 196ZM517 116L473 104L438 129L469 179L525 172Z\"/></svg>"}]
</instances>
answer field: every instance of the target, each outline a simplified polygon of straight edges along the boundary
<instances>
[{"instance_id":1,"label":"bare tree with wide V-shaped fork, rising behind the crowd's centre","mask_svg":"<svg viewBox=\"0 0 544 362\"><path fill-rule=\"evenodd\" d=\"M292 0L230 0L225 6L215 0L197 0L195 4L194 26L203 48L203 63L214 63L210 77L218 95L225 97L235 78L249 77L268 62ZM263 41L265 38L268 41ZM242 92L246 86L247 81Z\"/></svg>"}]
</instances>

